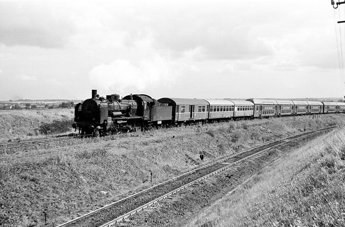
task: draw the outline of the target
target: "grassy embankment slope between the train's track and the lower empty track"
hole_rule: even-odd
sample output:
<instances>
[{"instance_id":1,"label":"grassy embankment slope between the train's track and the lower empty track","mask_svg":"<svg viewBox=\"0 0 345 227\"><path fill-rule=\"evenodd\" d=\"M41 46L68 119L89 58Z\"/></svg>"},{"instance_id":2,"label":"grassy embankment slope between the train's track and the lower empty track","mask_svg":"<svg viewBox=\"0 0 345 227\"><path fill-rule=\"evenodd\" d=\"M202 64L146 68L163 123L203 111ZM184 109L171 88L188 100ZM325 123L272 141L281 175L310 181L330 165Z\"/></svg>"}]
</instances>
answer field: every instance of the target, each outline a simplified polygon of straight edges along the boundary
<instances>
[{"instance_id":1,"label":"grassy embankment slope between the train's track and the lower empty track","mask_svg":"<svg viewBox=\"0 0 345 227\"><path fill-rule=\"evenodd\" d=\"M0 155L0 225L44 224L109 203L239 149L324 127L343 115L284 117L131 133ZM173 138L175 135L175 138ZM72 216L70 216L72 217Z\"/></svg>"}]
</instances>

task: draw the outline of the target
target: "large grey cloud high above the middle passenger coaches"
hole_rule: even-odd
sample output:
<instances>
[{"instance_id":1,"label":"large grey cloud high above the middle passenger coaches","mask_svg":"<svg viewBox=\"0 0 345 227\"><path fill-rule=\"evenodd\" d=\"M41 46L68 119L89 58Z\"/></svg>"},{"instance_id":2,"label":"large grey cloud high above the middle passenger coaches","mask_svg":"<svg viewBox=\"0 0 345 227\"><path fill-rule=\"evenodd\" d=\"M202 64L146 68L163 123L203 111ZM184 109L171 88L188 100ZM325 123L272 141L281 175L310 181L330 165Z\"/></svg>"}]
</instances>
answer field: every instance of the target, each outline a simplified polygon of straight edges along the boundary
<instances>
[{"instance_id":1,"label":"large grey cloud high above the middle passenger coaches","mask_svg":"<svg viewBox=\"0 0 345 227\"><path fill-rule=\"evenodd\" d=\"M233 3L217 2L215 6L200 3L164 9L161 12L164 15L155 15L163 20L149 25L155 31L155 47L180 54L198 50L196 60L255 59L273 55L272 48L255 30L257 22L253 21L257 18L250 13L241 14L243 9L236 7Z\"/></svg>"}]
</instances>

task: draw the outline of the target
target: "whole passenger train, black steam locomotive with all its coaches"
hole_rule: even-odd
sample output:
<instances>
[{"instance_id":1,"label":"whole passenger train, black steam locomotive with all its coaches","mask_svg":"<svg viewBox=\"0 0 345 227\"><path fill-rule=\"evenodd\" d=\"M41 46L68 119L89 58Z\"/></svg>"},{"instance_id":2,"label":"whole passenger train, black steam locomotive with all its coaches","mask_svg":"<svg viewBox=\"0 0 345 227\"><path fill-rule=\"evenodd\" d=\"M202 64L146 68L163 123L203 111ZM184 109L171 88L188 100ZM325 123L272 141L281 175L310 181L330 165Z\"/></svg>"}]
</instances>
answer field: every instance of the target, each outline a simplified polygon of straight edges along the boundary
<instances>
[{"instance_id":1,"label":"whole passenger train, black steam locomotive with all its coaches","mask_svg":"<svg viewBox=\"0 0 345 227\"><path fill-rule=\"evenodd\" d=\"M345 102L275 99L183 99L146 94L91 98L75 106L72 127L81 135L102 136L151 127L305 114L345 113Z\"/></svg>"}]
</instances>

